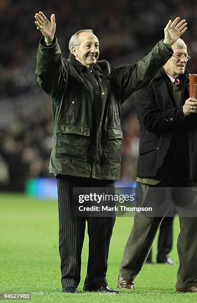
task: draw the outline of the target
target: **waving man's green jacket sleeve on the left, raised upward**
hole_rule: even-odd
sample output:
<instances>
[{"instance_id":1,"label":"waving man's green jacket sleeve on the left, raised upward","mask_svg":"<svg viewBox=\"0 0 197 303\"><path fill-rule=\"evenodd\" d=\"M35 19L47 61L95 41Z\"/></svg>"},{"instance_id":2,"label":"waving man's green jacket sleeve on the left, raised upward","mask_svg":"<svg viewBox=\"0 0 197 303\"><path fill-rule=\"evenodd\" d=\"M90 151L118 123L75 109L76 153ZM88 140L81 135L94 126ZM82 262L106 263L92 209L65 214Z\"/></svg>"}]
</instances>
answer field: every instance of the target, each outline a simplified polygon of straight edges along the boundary
<instances>
[{"instance_id":1,"label":"waving man's green jacket sleeve on the left, raised upward","mask_svg":"<svg viewBox=\"0 0 197 303\"><path fill-rule=\"evenodd\" d=\"M41 38L37 52L36 77L43 90L52 100L55 100L59 87L67 78L67 71L56 38L48 47L44 46L44 37Z\"/></svg>"}]
</instances>

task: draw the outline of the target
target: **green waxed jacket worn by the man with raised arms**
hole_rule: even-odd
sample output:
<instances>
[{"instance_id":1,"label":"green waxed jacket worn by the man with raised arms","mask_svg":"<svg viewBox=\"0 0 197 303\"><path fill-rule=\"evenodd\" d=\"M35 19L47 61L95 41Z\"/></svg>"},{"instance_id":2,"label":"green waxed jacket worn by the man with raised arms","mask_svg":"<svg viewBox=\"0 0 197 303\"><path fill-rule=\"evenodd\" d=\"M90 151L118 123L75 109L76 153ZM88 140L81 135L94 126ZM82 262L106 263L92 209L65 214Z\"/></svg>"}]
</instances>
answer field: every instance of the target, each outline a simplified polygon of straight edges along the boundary
<instances>
[{"instance_id":1,"label":"green waxed jacket worn by the man with raised arms","mask_svg":"<svg viewBox=\"0 0 197 303\"><path fill-rule=\"evenodd\" d=\"M52 100L53 148L49 172L118 180L123 140L120 106L147 85L172 53L159 41L143 59L112 67L97 61L91 72L70 53L61 56L56 38L37 53L36 76Z\"/></svg>"}]
</instances>

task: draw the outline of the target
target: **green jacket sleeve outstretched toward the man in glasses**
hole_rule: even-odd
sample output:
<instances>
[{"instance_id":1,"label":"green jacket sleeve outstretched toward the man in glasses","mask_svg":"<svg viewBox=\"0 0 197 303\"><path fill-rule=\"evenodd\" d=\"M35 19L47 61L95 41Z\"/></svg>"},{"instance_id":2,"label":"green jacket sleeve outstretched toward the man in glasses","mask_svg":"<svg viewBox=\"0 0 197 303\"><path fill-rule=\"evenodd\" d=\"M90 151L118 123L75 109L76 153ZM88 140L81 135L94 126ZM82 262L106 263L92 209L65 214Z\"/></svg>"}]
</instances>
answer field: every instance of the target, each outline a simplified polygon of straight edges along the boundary
<instances>
[{"instance_id":1,"label":"green jacket sleeve outstretched toward the man in glasses","mask_svg":"<svg viewBox=\"0 0 197 303\"><path fill-rule=\"evenodd\" d=\"M168 49L163 41L159 41L142 60L132 65L123 64L119 68L115 68L114 78L121 91L122 102L134 91L148 85L172 54L173 50Z\"/></svg>"}]
</instances>

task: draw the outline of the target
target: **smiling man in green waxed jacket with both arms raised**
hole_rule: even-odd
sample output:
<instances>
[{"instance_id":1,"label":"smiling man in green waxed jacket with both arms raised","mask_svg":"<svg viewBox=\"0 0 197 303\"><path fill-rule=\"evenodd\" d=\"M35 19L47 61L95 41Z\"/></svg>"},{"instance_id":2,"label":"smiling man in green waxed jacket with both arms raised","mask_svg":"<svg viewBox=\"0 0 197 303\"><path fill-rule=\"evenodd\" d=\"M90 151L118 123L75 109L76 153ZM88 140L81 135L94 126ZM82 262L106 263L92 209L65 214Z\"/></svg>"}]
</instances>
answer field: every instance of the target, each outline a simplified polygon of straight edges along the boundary
<instances>
[{"instance_id":1,"label":"smiling man in green waxed jacket with both arms raised","mask_svg":"<svg viewBox=\"0 0 197 303\"><path fill-rule=\"evenodd\" d=\"M106 194L114 193L123 139L120 105L147 85L171 57L169 47L187 30L187 23L179 22L179 17L170 20L164 41L158 42L143 60L114 68L106 60L97 61L99 40L92 30L80 30L71 37L66 60L54 36L54 14L50 22L42 12L36 13L35 19L44 36L38 49L36 75L52 99L49 171L57 177L62 290L77 292L87 219L89 259L84 291L117 293L107 286L105 278L115 217L74 216L73 188L104 187Z\"/></svg>"}]
</instances>

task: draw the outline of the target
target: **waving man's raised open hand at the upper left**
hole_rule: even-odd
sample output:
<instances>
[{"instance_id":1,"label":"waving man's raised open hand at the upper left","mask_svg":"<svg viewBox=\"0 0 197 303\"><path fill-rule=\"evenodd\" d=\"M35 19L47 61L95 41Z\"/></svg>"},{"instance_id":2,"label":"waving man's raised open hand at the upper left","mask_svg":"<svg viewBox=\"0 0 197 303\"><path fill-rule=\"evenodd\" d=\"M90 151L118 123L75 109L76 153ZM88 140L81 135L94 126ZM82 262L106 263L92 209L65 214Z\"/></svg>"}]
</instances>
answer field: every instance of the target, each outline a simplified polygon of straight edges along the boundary
<instances>
[{"instance_id":1,"label":"waving man's raised open hand at the upper left","mask_svg":"<svg viewBox=\"0 0 197 303\"><path fill-rule=\"evenodd\" d=\"M45 37L46 44L50 44L53 41L55 34L55 15L52 14L49 21L44 13L39 11L39 13L36 13L34 17L36 19L35 24L37 29L39 29Z\"/></svg>"}]
</instances>

